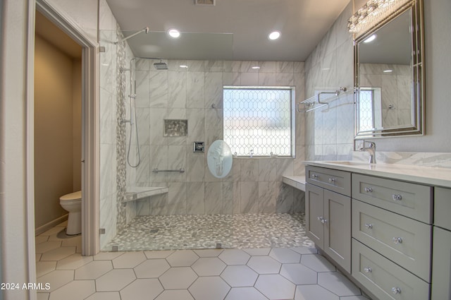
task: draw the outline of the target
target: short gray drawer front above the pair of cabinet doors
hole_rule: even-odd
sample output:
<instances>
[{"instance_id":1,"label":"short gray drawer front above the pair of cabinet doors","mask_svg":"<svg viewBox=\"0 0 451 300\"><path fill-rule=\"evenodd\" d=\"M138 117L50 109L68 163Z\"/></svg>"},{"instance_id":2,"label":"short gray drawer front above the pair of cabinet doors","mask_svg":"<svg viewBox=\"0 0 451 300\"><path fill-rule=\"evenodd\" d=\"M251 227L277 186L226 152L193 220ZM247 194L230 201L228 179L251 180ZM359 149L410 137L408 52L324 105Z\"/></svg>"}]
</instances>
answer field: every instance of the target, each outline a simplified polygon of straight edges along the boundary
<instances>
[{"instance_id":1,"label":"short gray drawer front above the pair of cabinet doors","mask_svg":"<svg viewBox=\"0 0 451 300\"><path fill-rule=\"evenodd\" d=\"M309 184L351 196L351 173L349 172L307 166L305 167L305 178Z\"/></svg>"}]
</instances>

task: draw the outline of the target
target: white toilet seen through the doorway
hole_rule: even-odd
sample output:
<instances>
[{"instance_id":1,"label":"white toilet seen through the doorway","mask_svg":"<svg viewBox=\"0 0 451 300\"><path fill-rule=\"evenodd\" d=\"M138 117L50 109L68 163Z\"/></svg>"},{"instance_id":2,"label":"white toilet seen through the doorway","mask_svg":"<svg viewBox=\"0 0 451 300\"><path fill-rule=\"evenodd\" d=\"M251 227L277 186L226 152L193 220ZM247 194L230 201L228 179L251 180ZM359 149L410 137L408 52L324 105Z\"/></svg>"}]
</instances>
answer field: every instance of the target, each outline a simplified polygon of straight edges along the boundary
<instances>
[{"instance_id":1,"label":"white toilet seen through the doorway","mask_svg":"<svg viewBox=\"0 0 451 300\"><path fill-rule=\"evenodd\" d=\"M82 191L61 196L59 203L62 208L69 212L66 234L80 234L82 232Z\"/></svg>"}]
</instances>

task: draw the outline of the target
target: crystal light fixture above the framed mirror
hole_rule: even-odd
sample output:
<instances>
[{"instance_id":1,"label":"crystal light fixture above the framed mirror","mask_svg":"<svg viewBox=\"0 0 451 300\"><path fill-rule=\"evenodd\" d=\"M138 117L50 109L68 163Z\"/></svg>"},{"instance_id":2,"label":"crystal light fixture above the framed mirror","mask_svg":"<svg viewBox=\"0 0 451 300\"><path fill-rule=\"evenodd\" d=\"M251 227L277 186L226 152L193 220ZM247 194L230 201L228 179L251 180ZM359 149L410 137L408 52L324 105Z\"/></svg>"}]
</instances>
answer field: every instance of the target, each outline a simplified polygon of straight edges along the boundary
<instances>
[{"instance_id":1,"label":"crystal light fixture above the framed mirror","mask_svg":"<svg viewBox=\"0 0 451 300\"><path fill-rule=\"evenodd\" d=\"M414 0L369 0L347 21L347 30L358 33L395 13Z\"/></svg>"}]
</instances>

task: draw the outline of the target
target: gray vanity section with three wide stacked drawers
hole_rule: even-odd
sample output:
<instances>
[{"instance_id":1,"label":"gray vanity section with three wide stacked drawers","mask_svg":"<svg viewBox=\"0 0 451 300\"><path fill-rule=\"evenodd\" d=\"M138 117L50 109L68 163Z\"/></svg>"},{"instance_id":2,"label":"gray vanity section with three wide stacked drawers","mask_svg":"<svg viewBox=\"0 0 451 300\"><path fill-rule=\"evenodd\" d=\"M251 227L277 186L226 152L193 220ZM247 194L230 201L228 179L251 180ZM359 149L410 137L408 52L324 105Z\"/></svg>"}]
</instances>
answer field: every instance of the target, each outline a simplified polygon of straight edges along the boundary
<instances>
[{"instance_id":1,"label":"gray vanity section with three wide stacked drawers","mask_svg":"<svg viewBox=\"0 0 451 300\"><path fill-rule=\"evenodd\" d=\"M352 174L352 277L377 299L426 300L433 187Z\"/></svg>"}]
</instances>

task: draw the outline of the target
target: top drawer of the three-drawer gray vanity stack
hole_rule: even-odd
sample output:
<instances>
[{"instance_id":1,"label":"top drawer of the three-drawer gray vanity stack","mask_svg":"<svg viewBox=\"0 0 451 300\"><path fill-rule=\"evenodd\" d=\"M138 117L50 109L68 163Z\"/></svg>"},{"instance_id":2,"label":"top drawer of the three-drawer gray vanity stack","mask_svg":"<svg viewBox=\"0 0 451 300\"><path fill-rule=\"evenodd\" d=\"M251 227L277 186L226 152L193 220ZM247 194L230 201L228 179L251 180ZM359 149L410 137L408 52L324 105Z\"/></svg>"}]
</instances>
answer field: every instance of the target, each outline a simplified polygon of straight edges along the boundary
<instances>
[{"instance_id":1,"label":"top drawer of the three-drawer gray vanity stack","mask_svg":"<svg viewBox=\"0 0 451 300\"><path fill-rule=\"evenodd\" d=\"M352 174L352 198L432 224L432 187Z\"/></svg>"}]
</instances>

